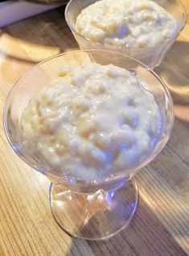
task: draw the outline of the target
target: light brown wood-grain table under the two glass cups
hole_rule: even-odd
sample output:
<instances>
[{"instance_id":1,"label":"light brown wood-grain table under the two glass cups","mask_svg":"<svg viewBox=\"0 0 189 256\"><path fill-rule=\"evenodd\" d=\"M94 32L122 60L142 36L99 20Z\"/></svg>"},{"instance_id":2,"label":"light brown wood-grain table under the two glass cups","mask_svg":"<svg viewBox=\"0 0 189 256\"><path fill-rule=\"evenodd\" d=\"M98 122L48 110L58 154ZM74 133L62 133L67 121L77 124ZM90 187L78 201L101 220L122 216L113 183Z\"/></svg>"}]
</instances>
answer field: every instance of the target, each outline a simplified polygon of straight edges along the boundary
<instances>
[{"instance_id":1,"label":"light brown wood-grain table under the two glass cups","mask_svg":"<svg viewBox=\"0 0 189 256\"><path fill-rule=\"evenodd\" d=\"M189 8L189 1L183 1ZM15 23L0 36L0 115L13 83L32 65L76 49L64 8ZM162 153L136 176L138 211L108 241L69 237L48 201L50 182L22 162L0 127L0 255L189 255L189 23L155 69L175 103L175 127ZM2 122L2 121L1 121Z\"/></svg>"}]
</instances>

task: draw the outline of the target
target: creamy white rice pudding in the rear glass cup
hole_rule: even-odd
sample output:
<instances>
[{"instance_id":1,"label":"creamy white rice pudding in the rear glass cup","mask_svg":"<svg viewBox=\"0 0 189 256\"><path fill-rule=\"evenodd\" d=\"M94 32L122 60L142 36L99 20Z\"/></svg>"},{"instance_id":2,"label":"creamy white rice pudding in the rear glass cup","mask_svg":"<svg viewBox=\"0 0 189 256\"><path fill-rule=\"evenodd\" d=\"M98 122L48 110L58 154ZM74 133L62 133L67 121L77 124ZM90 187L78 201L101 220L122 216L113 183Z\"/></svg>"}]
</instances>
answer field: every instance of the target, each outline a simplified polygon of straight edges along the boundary
<instances>
[{"instance_id":1,"label":"creamy white rice pudding in the rear glass cup","mask_svg":"<svg viewBox=\"0 0 189 256\"><path fill-rule=\"evenodd\" d=\"M142 48L175 38L177 22L150 0L101 0L80 12L76 30L101 44Z\"/></svg>"}]
</instances>

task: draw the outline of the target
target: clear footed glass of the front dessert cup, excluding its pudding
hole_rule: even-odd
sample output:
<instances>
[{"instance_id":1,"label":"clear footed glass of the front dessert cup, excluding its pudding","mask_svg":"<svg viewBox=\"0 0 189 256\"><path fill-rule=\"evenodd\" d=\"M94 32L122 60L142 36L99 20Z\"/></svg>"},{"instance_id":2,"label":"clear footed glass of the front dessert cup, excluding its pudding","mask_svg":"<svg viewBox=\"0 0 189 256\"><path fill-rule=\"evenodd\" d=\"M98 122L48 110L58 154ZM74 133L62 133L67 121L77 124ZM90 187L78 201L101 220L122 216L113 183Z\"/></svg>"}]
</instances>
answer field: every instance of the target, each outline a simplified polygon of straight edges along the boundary
<instances>
[{"instance_id":1,"label":"clear footed glass of the front dessert cup, excluding its pudding","mask_svg":"<svg viewBox=\"0 0 189 256\"><path fill-rule=\"evenodd\" d=\"M91 62L130 69L146 82L154 94L162 116L162 133L150 154L129 170L109 174L96 180L80 180L53 170L23 143L22 115L32 97L47 83L58 78L60 67ZM55 220L65 232L84 239L104 239L124 229L134 216L138 204L138 187L134 174L151 162L168 140L174 122L173 103L166 86L146 65L116 52L84 50L51 57L35 65L19 78L10 90L3 113L4 129L14 152L29 166L51 180L50 204Z\"/></svg>"}]
</instances>

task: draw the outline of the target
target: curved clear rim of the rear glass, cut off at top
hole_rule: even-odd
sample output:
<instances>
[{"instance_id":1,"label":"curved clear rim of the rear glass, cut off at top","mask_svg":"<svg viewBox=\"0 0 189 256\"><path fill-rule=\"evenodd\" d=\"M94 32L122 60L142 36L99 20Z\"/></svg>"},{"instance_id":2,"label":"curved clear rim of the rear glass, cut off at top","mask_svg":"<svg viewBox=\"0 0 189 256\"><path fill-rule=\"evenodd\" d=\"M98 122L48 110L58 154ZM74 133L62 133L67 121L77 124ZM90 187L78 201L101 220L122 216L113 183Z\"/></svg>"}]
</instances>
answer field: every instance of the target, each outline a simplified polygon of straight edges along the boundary
<instances>
[{"instance_id":1,"label":"curved clear rim of the rear glass, cut off at top","mask_svg":"<svg viewBox=\"0 0 189 256\"><path fill-rule=\"evenodd\" d=\"M109 47L109 48L112 48L112 49L127 50L127 51L131 51L132 49L138 49L138 51L140 51L140 50L142 51L142 49L152 49L152 48L156 48L157 46L160 46L162 44L169 43L172 40L175 40L179 36L179 33L183 30L183 28L187 24L187 8L186 8L186 6L184 6L183 2L181 2L180 0L175 0L183 8L183 12L184 12L183 20L184 20L184 22L183 22L183 26L179 29L179 31L176 33L176 35L173 38L171 38L169 40L166 40L166 41L162 41L161 43L158 43L158 44L154 44L153 46L145 46L145 47L140 47L140 48L138 48L137 46L130 47L130 48L124 48L122 46L120 47L120 46L116 46L116 45L112 45L112 44L107 44L107 43L106 44L101 44L101 43L98 43L98 42L96 42L94 40L89 39L87 36L81 35L78 31L76 31L76 28L73 27L70 24L70 22L68 20L68 15L67 14L68 14L68 9L71 6L73 1L75 1L75 0L69 0L68 4L66 5L66 8L64 10L64 16L65 16L65 19L66 19L66 23L68 24L68 27L70 28L72 33L76 33L77 36L80 36L82 39L87 40L88 42L91 42L92 44L96 44L97 46L103 46L103 47ZM97 1L99 1L99 0L97 0Z\"/></svg>"}]
</instances>

